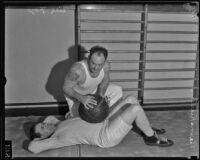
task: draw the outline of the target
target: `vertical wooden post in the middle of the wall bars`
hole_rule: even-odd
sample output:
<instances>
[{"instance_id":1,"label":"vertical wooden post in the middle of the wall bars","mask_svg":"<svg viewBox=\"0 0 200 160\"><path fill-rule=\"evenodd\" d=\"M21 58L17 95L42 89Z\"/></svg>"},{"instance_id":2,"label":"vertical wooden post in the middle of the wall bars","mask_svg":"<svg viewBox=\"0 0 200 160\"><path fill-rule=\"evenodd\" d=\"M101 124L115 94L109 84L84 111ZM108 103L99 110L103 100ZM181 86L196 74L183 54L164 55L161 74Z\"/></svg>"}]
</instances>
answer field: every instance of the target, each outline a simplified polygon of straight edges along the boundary
<instances>
[{"instance_id":1,"label":"vertical wooden post in the middle of the wall bars","mask_svg":"<svg viewBox=\"0 0 200 160\"><path fill-rule=\"evenodd\" d=\"M144 80L145 80L145 61L146 61L146 45L147 45L147 17L148 16L148 6L147 4L144 5L144 12L142 13L141 20L144 21L144 23L141 24L141 41L143 43L140 44L140 61L139 63L139 70L142 70L142 72L139 72L139 82L138 82L138 88L141 88L141 90L138 91L138 100L140 101L140 104L143 105L143 97L144 97Z\"/></svg>"}]
</instances>

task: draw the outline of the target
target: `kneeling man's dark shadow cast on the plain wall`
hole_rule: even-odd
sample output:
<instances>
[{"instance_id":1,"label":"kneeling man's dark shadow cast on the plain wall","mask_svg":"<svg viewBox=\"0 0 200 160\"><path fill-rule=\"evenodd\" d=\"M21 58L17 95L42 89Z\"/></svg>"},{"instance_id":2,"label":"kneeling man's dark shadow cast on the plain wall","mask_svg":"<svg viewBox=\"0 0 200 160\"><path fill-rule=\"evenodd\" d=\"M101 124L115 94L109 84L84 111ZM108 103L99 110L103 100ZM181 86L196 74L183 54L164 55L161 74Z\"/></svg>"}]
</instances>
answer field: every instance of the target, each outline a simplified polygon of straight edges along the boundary
<instances>
[{"instance_id":1,"label":"kneeling man's dark shadow cast on the plain wall","mask_svg":"<svg viewBox=\"0 0 200 160\"><path fill-rule=\"evenodd\" d=\"M78 46L78 50L86 51L82 46ZM46 91L51 94L57 102L66 102L64 92L63 92L63 83L67 72L75 61L78 61L78 51L75 45L68 48L68 59L56 63L49 74ZM63 106L63 105L62 105ZM61 107L61 104L58 105L58 112L60 115L65 115L69 109L66 107Z\"/></svg>"}]
</instances>

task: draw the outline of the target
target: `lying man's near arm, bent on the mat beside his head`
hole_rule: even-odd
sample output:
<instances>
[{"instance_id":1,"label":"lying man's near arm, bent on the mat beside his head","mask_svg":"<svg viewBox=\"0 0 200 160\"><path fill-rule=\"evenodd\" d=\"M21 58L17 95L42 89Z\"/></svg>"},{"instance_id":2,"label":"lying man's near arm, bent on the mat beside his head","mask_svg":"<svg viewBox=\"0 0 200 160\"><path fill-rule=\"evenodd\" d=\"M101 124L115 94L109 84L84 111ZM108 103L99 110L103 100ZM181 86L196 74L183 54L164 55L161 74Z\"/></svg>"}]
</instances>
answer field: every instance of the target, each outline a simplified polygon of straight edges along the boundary
<instances>
[{"instance_id":1,"label":"lying man's near arm, bent on the mat beside his head","mask_svg":"<svg viewBox=\"0 0 200 160\"><path fill-rule=\"evenodd\" d=\"M40 153L49 149L56 149L63 147L62 143L59 143L57 137L52 137L44 140L33 140L29 143L28 150L33 153Z\"/></svg>"}]
</instances>

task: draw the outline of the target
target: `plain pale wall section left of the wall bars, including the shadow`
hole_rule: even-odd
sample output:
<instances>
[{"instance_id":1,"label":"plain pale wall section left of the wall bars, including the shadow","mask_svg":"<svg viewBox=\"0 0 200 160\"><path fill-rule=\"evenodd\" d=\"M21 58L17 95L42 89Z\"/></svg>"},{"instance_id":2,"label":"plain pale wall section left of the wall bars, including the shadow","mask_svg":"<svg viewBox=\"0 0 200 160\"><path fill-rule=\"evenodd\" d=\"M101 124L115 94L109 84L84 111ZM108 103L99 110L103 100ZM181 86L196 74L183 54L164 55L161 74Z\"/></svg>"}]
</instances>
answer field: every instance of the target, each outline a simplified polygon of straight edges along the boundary
<instances>
[{"instance_id":1,"label":"plain pale wall section left of the wall bars, including the shadow","mask_svg":"<svg viewBox=\"0 0 200 160\"><path fill-rule=\"evenodd\" d=\"M60 96L63 77L77 60L73 8L5 10L5 103Z\"/></svg>"}]
</instances>

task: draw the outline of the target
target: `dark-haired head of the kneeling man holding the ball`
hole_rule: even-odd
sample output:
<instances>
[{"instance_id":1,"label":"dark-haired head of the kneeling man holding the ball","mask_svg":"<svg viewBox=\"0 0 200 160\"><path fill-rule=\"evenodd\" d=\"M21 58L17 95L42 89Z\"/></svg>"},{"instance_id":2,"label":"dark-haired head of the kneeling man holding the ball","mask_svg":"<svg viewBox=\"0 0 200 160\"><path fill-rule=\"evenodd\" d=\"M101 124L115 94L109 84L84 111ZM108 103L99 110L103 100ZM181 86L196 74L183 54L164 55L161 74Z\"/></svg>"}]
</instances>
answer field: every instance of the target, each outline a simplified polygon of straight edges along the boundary
<instances>
[{"instance_id":1,"label":"dark-haired head of the kneeling man holding the ball","mask_svg":"<svg viewBox=\"0 0 200 160\"><path fill-rule=\"evenodd\" d=\"M107 59L108 51L101 46L94 46L90 49L88 56L88 66L92 73L98 73L103 68Z\"/></svg>"}]
</instances>

